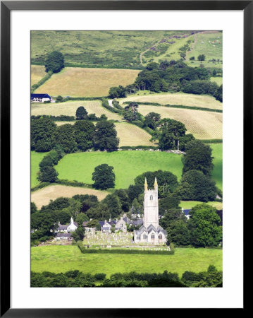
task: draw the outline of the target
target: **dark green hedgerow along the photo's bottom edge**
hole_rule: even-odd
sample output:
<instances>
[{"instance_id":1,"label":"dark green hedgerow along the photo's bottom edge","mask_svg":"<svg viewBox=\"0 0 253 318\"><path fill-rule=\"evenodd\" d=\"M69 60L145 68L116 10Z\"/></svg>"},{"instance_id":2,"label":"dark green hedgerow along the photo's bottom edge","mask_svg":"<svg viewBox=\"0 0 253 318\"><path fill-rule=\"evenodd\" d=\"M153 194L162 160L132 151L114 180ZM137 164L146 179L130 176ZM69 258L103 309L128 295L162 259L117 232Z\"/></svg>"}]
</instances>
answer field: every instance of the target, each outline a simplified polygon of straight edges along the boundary
<instances>
[{"instance_id":1,"label":"dark green hedgerow along the photo's bottom edge","mask_svg":"<svg viewBox=\"0 0 253 318\"><path fill-rule=\"evenodd\" d=\"M31 287L222 287L222 271L210 265L207 271L195 273L185 271L181 278L178 273L66 273L31 272Z\"/></svg>"}]
</instances>

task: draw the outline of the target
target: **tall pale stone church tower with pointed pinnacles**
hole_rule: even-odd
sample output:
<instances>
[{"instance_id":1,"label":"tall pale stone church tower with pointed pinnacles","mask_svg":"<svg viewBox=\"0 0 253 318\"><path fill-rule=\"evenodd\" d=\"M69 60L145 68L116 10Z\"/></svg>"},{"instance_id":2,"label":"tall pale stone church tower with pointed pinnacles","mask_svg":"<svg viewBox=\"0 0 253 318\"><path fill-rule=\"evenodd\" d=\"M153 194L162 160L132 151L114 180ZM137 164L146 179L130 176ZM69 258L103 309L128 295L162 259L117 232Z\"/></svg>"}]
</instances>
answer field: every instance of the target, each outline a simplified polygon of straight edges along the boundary
<instances>
[{"instance_id":1,"label":"tall pale stone church tower with pointed pinnacles","mask_svg":"<svg viewBox=\"0 0 253 318\"><path fill-rule=\"evenodd\" d=\"M148 189L147 178L145 178L143 209L143 225L148 228L149 225L152 224L157 228L159 226L159 207L158 184L156 178L154 179L154 189L151 190Z\"/></svg>"}]
</instances>

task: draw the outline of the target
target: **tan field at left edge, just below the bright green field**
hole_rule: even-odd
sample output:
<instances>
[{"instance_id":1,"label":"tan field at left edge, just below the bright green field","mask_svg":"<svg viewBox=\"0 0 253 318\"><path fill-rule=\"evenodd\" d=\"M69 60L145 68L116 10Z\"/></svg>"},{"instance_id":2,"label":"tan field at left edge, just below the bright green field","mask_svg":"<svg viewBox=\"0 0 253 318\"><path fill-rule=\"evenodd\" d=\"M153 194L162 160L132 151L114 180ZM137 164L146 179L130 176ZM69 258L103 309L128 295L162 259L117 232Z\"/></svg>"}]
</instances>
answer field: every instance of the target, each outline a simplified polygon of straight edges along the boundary
<instances>
[{"instance_id":1,"label":"tan field at left edge, just below the bright green field","mask_svg":"<svg viewBox=\"0 0 253 318\"><path fill-rule=\"evenodd\" d=\"M41 208L42 206L49 204L50 200L55 200L60 196L71 198L72 196L75 196L75 194L93 194L94 196L97 196L99 200L102 200L107 196L107 194L109 194L109 192L54 184L32 192L31 201L35 202L37 208Z\"/></svg>"}]
</instances>

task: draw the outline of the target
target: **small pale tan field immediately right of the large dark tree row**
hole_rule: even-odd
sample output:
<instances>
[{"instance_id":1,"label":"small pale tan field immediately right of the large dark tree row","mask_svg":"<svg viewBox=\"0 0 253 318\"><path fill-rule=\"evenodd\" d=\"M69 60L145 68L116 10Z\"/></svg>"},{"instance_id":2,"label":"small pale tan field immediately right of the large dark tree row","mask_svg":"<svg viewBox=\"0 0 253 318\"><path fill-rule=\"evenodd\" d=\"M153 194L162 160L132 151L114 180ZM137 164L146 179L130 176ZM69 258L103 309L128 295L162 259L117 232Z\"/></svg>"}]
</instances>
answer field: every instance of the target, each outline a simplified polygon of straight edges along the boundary
<instances>
[{"instance_id":1,"label":"small pale tan field immediately right of the large dark tree row","mask_svg":"<svg viewBox=\"0 0 253 318\"><path fill-rule=\"evenodd\" d=\"M154 146L154 143L149 141L151 135L138 126L128 124L127 122L115 123L118 138L120 139L119 146Z\"/></svg>"}]
</instances>

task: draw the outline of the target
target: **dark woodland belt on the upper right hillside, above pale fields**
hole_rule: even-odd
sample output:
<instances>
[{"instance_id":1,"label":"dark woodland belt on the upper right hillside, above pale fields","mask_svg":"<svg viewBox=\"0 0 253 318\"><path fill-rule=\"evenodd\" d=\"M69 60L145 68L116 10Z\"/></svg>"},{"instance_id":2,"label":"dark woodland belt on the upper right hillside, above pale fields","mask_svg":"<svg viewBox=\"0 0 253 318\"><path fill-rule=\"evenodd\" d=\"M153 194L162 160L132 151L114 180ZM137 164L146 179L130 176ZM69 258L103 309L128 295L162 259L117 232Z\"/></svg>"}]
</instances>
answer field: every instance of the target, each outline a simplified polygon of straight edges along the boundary
<instances>
[{"instance_id":1,"label":"dark woodland belt on the upper right hillside, above pale fields","mask_svg":"<svg viewBox=\"0 0 253 318\"><path fill-rule=\"evenodd\" d=\"M110 98L124 98L137 90L150 90L155 93L179 92L192 94L208 94L222 102L222 85L209 81L210 71L203 67L187 66L184 61L171 60L152 62L140 71L135 83L128 86L116 86L109 90Z\"/></svg>"}]
</instances>

